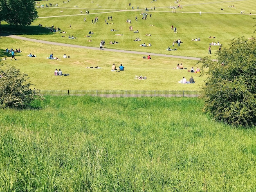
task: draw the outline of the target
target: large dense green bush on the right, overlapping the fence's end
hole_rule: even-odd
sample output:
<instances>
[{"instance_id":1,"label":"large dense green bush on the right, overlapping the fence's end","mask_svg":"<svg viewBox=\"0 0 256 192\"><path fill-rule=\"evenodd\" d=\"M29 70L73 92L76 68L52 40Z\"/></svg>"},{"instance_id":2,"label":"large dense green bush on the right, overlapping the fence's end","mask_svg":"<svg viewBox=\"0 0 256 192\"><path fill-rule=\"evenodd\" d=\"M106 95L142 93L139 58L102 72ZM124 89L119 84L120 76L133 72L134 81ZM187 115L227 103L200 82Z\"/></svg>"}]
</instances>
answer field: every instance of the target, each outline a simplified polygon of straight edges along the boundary
<instances>
[{"instance_id":1,"label":"large dense green bush on the right, overlapping the fence's end","mask_svg":"<svg viewBox=\"0 0 256 192\"><path fill-rule=\"evenodd\" d=\"M232 125L256 125L256 40L236 38L229 48L199 63L209 67L203 87L205 112Z\"/></svg>"}]
</instances>

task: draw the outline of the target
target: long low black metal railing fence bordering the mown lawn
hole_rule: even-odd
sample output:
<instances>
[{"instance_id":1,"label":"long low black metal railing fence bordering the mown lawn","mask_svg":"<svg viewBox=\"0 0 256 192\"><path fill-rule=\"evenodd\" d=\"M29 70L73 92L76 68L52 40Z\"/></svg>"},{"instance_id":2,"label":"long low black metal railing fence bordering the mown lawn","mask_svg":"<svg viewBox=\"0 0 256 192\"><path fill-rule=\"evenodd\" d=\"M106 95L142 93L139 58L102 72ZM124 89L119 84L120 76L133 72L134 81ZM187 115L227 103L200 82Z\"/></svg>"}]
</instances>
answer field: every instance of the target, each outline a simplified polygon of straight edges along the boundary
<instances>
[{"instance_id":1,"label":"long low black metal railing fence bordering the mown lawn","mask_svg":"<svg viewBox=\"0 0 256 192\"><path fill-rule=\"evenodd\" d=\"M40 95L98 97L198 97L199 91L189 90L38 90Z\"/></svg>"}]
</instances>

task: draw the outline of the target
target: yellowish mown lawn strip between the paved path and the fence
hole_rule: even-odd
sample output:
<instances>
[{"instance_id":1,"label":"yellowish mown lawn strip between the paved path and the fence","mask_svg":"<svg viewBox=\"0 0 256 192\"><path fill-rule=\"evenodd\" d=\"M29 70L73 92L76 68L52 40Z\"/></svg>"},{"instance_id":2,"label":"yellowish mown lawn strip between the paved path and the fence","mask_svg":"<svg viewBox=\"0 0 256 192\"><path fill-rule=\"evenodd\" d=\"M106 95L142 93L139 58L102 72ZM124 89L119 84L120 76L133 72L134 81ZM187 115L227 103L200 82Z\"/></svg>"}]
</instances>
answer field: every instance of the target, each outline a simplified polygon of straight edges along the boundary
<instances>
[{"instance_id":1,"label":"yellowish mown lawn strip between the paved path and the fence","mask_svg":"<svg viewBox=\"0 0 256 192\"><path fill-rule=\"evenodd\" d=\"M2 63L14 65L28 74L29 81L36 89L199 90L206 78L201 74L188 72L192 66L196 68L196 60L158 56L152 56L152 59L148 60L142 58L146 55L52 46L7 37L2 37L1 42L7 47L22 50L16 54L18 60L11 61L9 54L7 60L3 60ZM29 53L36 54L36 58L26 57ZM52 53L61 60L47 59ZM63 59L64 54L70 58ZM113 63L117 67L122 63L125 71L112 72ZM187 69L173 69L177 63L183 63ZM96 66L101 69L87 68ZM64 74L70 76L54 76L55 69L61 69ZM147 80L135 79L135 75L146 76ZM187 80L193 76L196 83L178 83L183 76Z\"/></svg>"}]
</instances>

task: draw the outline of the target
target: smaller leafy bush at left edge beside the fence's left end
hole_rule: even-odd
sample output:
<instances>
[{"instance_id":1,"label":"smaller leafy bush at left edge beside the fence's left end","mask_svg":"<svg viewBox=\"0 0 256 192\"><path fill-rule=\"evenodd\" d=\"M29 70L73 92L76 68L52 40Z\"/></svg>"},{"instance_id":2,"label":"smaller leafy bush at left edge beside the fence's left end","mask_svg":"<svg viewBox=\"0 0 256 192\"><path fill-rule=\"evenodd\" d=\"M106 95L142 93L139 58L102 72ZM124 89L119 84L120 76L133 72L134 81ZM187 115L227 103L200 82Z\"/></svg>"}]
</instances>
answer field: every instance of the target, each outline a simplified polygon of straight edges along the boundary
<instances>
[{"instance_id":1,"label":"smaller leafy bush at left edge beside the fence's left end","mask_svg":"<svg viewBox=\"0 0 256 192\"><path fill-rule=\"evenodd\" d=\"M0 66L0 107L21 109L28 107L33 100L43 99L36 90L29 88L27 74L22 74L14 66L2 68L3 65Z\"/></svg>"}]
</instances>

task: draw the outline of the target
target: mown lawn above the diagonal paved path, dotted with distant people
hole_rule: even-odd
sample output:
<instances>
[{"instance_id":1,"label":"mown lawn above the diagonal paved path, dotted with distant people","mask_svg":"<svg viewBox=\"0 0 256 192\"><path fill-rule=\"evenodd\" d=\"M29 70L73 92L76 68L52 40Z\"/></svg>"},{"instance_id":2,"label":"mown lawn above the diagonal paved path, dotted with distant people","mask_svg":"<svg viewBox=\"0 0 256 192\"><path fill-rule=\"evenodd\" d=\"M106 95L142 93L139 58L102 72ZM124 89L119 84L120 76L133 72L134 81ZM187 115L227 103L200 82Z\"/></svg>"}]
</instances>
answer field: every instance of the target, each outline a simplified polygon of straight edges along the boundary
<instances>
[{"instance_id":1,"label":"mown lawn above the diagonal paved path, dotted with distant people","mask_svg":"<svg viewBox=\"0 0 256 192\"><path fill-rule=\"evenodd\" d=\"M80 4L78 4L80 3ZM132 2L131 2L132 3ZM92 47L99 47L99 42L101 40L106 41L106 47L110 49L124 49L133 51L146 51L148 53L164 53L180 56L193 56L193 57L204 57L208 56L208 47L211 42L220 42L223 47L228 47L230 41L233 38L245 36L246 38L254 35L255 30L255 20L254 15L250 17L247 14L240 14L240 9L245 7L245 4L253 4L252 0L247 0L243 2L236 2L236 8L230 8L232 11L227 13L233 14L220 14L226 13L225 11L217 12L220 7L227 7L228 3L223 4L222 1L211 2L211 1L189 1L184 2L183 9L177 9L176 13L172 13L172 10L168 7L169 2L153 2L148 5L159 4L157 10L148 11L152 14L152 17L148 15L146 20L142 20L140 15L141 11L144 11L144 7L148 1L141 1L139 7L143 7L141 10L132 10L128 6L128 2L122 1L104 1L104 10L102 7L99 9L95 8L95 3L87 2L83 5L82 2L73 1L68 3L63 3L63 1L58 1L58 7L40 8L38 9L39 18L30 27L26 27L21 31L16 31L17 34L23 34L23 36L29 38L36 38L42 40L49 40L54 42L65 42L74 45L85 45ZM74 8L74 5L78 5L79 8ZM99 5L103 5L102 2L97 2ZM183 4L183 2L182 2ZM110 6L109 10L106 10ZM115 6L116 11L112 10L112 6ZM152 7L152 6L150 6ZM61 8L63 10L67 9L67 13L63 11L60 13ZM90 9L90 14L85 15L85 13L80 15L79 10ZM106 9L105 9L106 8ZM127 10L126 10L127 8ZM211 8L211 9L210 9ZM255 8L253 4L251 9ZM159 10L160 9L160 10ZM186 10L189 9L189 10ZM121 10L121 12L120 12ZM122 11L124 10L124 11ZM112 11L112 12L109 12ZM199 11L202 11L202 16L199 16ZM105 13L107 12L107 13ZM239 12L239 14L238 14ZM254 11L255 12L255 11ZM254 13L252 11L252 13ZM65 14L64 14L65 13ZM50 17L47 16L63 16L64 17ZM73 15L73 16L72 16ZM92 24L92 20L98 16L99 21ZM106 25L104 20L112 16L113 20L108 21L109 25ZM135 22L135 16L138 17L138 21ZM84 22L84 17L86 17L86 22ZM132 23L126 23L127 19L131 19ZM63 22L63 20L65 22ZM67 33L52 33L48 30L38 29L39 24L44 27L51 27L52 25L61 28ZM70 24L72 28L70 29ZM133 30L139 30L139 33L133 33L129 31L129 26L133 26ZM154 26L150 26L154 25ZM177 33L173 33L171 30L171 25L177 27ZM6 26L3 25L3 29ZM115 29L118 31L110 31ZM6 29L7 30L7 29ZM94 35L91 38L85 37L88 35L89 31L93 31ZM150 33L152 36L145 36L145 34ZM123 36L115 36L115 34L123 34ZM68 36L75 36L77 39L70 40ZM65 37L62 37L65 36ZM210 39L209 36L215 36L215 39ZM140 42L133 41L136 37L141 39ZM192 39L199 38L200 42L191 41ZM183 44L177 48L177 51L166 51L168 46L172 45L174 40L181 39ZM92 42L88 42L91 39ZM117 45L108 45L108 42L116 40L120 42ZM141 43L151 43L152 47L139 47ZM145 48L145 49L144 49ZM219 46L212 46L211 55L212 58L216 58L214 53L219 49Z\"/></svg>"}]
</instances>

